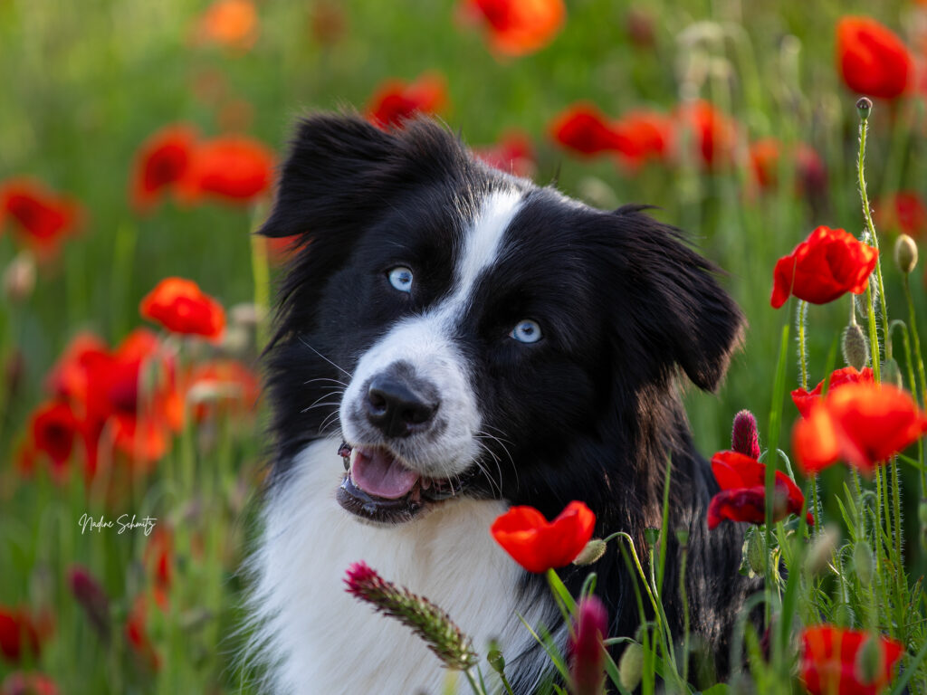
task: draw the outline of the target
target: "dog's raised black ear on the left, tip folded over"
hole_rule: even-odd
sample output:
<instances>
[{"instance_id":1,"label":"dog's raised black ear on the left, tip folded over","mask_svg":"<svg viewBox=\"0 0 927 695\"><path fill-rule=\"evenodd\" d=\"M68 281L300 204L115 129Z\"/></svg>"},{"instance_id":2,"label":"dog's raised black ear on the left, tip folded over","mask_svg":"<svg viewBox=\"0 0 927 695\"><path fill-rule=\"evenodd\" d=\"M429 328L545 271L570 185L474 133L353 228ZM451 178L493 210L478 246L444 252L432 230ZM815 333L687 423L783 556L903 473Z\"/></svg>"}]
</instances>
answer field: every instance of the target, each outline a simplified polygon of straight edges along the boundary
<instances>
[{"instance_id":1,"label":"dog's raised black ear on the left, tip folded over","mask_svg":"<svg viewBox=\"0 0 927 695\"><path fill-rule=\"evenodd\" d=\"M383 172L396 149L393 135L358 116L300 120L260 234L318 234L369 219L364 213L382 206Z\"/></svg>"}]
</instances>

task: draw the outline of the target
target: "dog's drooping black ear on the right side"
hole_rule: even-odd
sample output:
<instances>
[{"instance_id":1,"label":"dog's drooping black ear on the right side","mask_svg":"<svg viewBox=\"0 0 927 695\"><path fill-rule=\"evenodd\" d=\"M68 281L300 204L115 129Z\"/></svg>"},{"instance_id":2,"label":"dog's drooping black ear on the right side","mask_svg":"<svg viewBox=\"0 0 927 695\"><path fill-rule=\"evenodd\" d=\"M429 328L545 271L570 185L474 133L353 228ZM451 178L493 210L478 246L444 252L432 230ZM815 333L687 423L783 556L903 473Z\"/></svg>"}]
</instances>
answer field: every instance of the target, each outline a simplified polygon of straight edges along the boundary
<instances>
[{"instance_id":1,"label":"dog's drooping black ear on the right side","mask_svg":"<svg viewBox=\"0 0 927 695\"><path fill-rule=\"evenodd\" d=\"M743 340L743 312L715 279L708 260L679 230L639 207L618 208L625 240L626 285L649 348L682 367L692 383L714 391Z\"/></svg>"}]
</instances>

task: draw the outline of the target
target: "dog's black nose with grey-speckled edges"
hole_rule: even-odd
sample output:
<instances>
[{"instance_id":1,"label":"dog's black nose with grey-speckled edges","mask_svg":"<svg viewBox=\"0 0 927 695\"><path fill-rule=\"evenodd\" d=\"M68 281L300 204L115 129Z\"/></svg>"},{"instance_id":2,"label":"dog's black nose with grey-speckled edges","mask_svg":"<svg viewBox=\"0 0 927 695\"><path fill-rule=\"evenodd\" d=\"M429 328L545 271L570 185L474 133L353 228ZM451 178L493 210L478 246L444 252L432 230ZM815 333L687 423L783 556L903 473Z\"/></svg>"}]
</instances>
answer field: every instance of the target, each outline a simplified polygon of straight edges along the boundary
<instances>
[{"instance_id":1,"label":"dog's black nose with grey-speckled edges","mask_svg":"<svg viewBox=\"0 0 927 695\"><path fill-rule=\"evenodd\" d=\"M364 406L367 420L386 436L409 436L427 428L438 410L438 401L427 398L410 381L381 374L367 387Z\"/></svg>"}]
</instances>

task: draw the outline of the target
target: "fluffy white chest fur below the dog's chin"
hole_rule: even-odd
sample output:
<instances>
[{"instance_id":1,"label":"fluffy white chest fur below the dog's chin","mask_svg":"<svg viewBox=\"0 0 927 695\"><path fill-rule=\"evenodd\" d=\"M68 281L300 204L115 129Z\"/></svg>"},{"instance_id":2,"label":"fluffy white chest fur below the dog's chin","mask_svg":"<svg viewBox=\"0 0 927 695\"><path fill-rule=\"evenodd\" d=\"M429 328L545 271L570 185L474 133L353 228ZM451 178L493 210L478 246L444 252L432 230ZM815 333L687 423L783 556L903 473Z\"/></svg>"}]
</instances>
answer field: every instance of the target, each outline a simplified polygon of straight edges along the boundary
<instances>
[{"instance_id":1,"label":"fluffy white chest fur below the dog's chin","mask_svg":"<svg viewBox=\"0 0 927 695\"><path fill-rule=\"evenodd\" d=\"M441 606L474 638L481 658L490 638L509 661L525 651L532 638L516 613L537 624L549 606L518 605L522 570L489 535L505 505L451 500L409 524L363 524L335 500L339 441L305 449L264 512L262 544L252 559L258 578L252 608L260 651L271 663L270 690L443 692L446 672L422 641L345 591L346 570L361 560ZM485 661L481 668L487 671Z\"/></svg>"}]
</instances>

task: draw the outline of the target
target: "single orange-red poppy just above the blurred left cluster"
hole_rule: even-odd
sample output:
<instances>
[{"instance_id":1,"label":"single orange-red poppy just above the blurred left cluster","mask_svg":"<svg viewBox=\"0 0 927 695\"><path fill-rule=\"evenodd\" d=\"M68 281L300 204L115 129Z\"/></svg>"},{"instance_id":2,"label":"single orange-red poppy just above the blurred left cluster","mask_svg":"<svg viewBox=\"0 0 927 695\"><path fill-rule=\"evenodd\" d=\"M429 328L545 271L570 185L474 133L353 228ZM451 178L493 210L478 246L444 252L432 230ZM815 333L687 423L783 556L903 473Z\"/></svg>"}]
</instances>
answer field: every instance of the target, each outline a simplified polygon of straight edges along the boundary
<instances>
[{"instance_id":1,"label":"single orange-red poppy just above the blurred left cluster","mask_svg":"<svg viewBox=\"0 0 927 695\"><path fill-rule=\"evenodd\" d=\"M218 338L225 328L222 305L203 293L192 280L165 278L142 299L144 318L173 333Z\"/></svg>"}]
</instances>

